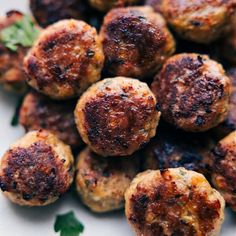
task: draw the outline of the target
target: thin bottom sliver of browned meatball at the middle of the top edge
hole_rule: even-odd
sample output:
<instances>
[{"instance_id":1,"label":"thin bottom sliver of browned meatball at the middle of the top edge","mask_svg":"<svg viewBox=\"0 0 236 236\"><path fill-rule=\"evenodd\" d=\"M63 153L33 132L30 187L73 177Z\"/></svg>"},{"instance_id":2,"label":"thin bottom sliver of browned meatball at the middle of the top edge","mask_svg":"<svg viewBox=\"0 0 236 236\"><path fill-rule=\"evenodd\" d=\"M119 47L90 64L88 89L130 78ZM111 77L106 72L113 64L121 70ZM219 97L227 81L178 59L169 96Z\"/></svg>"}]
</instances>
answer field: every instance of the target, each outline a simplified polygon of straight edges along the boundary
<instances>
[{"instance_id":1,"label":"thin bottom sliver of browned meatball at the middle of the top edge","mask_svg":"<svg viewBox=\"0 0 236 236\"><path fill-rule=\"evenodd\" d=\"M128 5L135 5L140 0L88 0L89 4L99 11L106 12L114 7L124 7Z\"/></svg>"}]
</instances>

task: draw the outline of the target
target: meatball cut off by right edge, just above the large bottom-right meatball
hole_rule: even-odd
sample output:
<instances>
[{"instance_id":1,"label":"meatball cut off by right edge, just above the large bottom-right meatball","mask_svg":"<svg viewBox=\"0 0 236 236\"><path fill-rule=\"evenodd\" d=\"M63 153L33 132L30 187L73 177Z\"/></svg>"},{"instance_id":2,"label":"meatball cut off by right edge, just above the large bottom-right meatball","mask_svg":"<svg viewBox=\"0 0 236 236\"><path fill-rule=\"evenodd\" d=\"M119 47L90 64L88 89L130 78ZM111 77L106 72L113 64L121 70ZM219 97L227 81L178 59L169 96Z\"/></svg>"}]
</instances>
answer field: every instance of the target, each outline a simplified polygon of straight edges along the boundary
<instances>
[{"instance_id":1,"label":"meatball cut off by right edge, just above the large bottom-right meatball","mask_svg":"<svg viewBox=\"0 0 236 236\"><path fill-rule=\"evenodd\" d=\"M213 185L236 211L236 131L219 142L209 159Z\"/></svg>"}]
</instances>

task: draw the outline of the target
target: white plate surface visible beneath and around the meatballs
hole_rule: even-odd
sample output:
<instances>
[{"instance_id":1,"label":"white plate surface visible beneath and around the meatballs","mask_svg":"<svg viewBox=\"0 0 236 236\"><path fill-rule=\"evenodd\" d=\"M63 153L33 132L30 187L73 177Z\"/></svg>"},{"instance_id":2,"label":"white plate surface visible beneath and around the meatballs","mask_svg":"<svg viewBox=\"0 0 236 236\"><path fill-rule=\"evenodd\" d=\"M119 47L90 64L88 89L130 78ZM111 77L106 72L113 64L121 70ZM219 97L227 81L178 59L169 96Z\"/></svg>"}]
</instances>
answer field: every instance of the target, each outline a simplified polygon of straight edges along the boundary
<instances>
[{"instance_id":1,"label":"white plate surface visible beneath and around the meatballs","mask_svg":"<svg viewBox=\"0 0 236 236\"><path fill-rule=\"evenodd\" d=\"M0 0L0 15L7 10L28 12L27 0ZM24 134L20 127L13 128L10 121L17 98L0 89L0 156L9 145ZM0 236L55 236L53 230L57 214L73 210L84 224L83 236L132 236L123 212L95 215L85 209L70 194L55 204L42 208L24 208L13 205L0 193ZM236 214L226 210L226 220L221 235L236 236Z\"/></svg>"}]
</instances>

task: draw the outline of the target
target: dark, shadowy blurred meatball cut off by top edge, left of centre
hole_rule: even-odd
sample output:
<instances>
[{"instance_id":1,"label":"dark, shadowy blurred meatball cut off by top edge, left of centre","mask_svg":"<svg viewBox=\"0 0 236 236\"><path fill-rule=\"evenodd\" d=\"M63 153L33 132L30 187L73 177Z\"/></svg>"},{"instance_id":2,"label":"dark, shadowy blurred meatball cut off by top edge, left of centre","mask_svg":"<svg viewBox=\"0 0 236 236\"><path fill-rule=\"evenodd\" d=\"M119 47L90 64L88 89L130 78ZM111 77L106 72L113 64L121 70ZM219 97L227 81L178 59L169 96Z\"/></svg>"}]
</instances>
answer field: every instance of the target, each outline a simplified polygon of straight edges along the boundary
<instances>
[{"instance_id":1,"label":"dark, shadowy blurred meatball cut off by top edge, left of centre","mask_svg":"<svg viewBox=\"0 0 236 236\"><path fill-rule=\"evenodd\" d=\"M82 0L30 0L30 8L41 26L62 19L83 19L85 14Z\"/></svg>"}]
</instances>

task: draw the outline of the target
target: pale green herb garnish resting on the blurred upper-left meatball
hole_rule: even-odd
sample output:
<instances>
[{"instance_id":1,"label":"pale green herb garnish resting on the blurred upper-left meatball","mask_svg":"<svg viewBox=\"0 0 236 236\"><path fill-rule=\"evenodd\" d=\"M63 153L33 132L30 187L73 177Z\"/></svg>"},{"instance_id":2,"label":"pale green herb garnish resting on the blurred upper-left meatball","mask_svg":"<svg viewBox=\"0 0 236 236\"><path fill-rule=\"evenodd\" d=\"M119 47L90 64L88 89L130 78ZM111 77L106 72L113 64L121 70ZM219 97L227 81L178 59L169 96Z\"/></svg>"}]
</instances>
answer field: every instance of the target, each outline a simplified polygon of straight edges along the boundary
<instances>
[{"instance_id":1,"label":"pale green herb garnish resting on the blurred upper-left meatball","mask_svg":"<svg viewBox=\"0 0 236 236\"><path fill-rule=\"evenodd\" d=\"M38 35L39 29L35 27L31 17L24 15L21 20L3 29L0 39L5 47L15 52L19 45L31 47Z\"/></svg>"}]
</instances>

